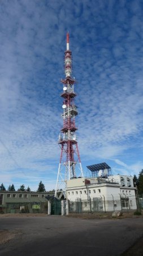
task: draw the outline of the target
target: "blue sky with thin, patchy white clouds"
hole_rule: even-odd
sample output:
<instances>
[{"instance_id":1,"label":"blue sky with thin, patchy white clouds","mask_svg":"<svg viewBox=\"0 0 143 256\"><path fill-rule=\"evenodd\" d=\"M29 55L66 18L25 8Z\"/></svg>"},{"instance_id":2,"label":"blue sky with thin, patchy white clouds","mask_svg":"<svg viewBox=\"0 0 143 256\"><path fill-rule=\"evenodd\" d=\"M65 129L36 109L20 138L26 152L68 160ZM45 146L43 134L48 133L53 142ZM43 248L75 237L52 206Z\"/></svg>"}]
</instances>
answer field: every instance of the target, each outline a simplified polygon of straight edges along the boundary
<instances>
[{"instance_id":1,"label":"blue sky with thin, patchy white clouds","mask_svg":"<svg viewBox=\"0 0 143 256\"><path fill-rule=\"evenodd\" d=\"M0 183L55 188L70 32L81 162L143 168L143 2L1 0Z\"/></svg>"}]
</instances>

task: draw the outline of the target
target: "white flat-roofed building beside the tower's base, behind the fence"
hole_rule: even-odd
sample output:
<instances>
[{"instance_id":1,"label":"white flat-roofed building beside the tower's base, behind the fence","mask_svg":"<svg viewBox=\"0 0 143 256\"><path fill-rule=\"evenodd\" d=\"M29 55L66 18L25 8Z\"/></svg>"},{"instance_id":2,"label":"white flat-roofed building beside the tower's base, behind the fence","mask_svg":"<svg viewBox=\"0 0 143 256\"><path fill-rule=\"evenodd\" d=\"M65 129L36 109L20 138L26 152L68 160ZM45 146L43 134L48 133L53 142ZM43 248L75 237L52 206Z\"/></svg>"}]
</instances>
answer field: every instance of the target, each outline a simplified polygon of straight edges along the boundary
<instances>
[{"instance_id":1,"label":"white flat-roofed building beside the tower's base, behind the fence","mask_svg":"<svg viewBox=\"0 0 143 256\"><path fill-rule=\"evenodd\" d=\"M71 202L82 201L84 210L113 211L136 209L133 177L110 175L108 177L79 177L67 180L66 198Z\"/></svg>"}]
</instances>

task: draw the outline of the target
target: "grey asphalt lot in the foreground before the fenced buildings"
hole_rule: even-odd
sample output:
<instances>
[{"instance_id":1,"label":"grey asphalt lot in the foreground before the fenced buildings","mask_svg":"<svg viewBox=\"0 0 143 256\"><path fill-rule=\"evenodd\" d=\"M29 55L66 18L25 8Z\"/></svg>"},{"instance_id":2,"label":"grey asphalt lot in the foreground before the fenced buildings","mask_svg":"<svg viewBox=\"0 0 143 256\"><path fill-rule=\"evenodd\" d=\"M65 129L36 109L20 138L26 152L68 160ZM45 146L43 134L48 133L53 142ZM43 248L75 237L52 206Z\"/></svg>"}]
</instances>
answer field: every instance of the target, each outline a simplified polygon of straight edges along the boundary
<instances>
[{"instance_id":1,"label":"grey asphalt lot in the foreground before the fenced buildings","mask_svg":"<svg viewBox=\"0 0 143 256\"><path fill-rule=\"evenodd\" d=\"M62 216L0 218L15 238L1 256L117 256L143 235L142 218L83 220Z\"/></svg>"}]
</instances>

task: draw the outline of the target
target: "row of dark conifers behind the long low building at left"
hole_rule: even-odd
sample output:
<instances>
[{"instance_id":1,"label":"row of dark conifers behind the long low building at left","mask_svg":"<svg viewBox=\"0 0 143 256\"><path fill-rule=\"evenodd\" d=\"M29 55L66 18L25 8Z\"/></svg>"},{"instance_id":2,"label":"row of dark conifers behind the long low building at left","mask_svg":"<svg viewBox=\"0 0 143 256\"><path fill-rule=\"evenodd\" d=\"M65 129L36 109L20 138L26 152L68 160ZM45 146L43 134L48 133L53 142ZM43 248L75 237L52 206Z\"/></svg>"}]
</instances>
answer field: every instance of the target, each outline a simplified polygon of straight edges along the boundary
<instances>
[{"instance_id":1,"label":"row of dark conifers behind the long low building at left","mask_svg":"<svg viewBox=\"0 0 143 256\"><path fill-rule=\"evenodd\" d=\"M2 184L0 185L0 191L16 191L16 190L15 190L14 184L9 185L9 187L6 189L6 188L5 188L5 185L3 185L3 183L2 183ZM22 185L20 186L20 188L19 188L17 191L22 191L22 192L28 191L28 192L30 192L30 191L31 191L31 188L29 188L29 186L28 186L27 189L26 189L26 188L25 188L25 185L22 184ZM38 184L37 192L45 192L45 191L46 191L45 185L42 183L42 181L40 181L40 183ZM54 189L53 189L53 191L54 191Z\"/></svg>"}]
</instances>

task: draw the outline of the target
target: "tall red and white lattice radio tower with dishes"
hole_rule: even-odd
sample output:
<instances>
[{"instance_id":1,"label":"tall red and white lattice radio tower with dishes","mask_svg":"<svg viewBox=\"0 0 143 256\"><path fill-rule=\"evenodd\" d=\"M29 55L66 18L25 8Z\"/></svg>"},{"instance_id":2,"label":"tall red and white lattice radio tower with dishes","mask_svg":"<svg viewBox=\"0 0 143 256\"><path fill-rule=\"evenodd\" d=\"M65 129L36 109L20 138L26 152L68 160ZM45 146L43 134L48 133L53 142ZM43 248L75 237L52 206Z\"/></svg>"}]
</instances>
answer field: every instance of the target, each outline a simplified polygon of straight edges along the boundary
<instances>
[{"instance_id":1,"label":"tall red and white lattice radio tower with dishes","mask_svg":"<svg viewBox=\"0 0 143 256\"><path fill-rule=\"evenodd\" d=\"M66 188L66 181L83 177L79 149L76 140L75 116L77 115L77 106L74 104L76 93L74 92L75 79L71 77L72 73L72 52L69 48L69 34L67 33L67 49L64 52L64 72L66 78L62 79L63 92L60 95L63 98L63 128L59 134L60 161L58 168L57 184L55 188L55 197L59 189Z\"/></svg>"}]
</instances>

